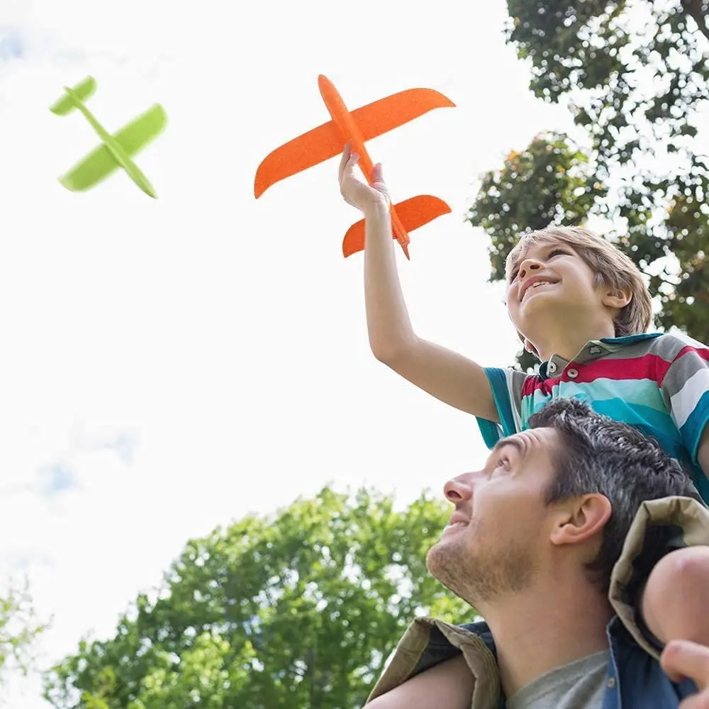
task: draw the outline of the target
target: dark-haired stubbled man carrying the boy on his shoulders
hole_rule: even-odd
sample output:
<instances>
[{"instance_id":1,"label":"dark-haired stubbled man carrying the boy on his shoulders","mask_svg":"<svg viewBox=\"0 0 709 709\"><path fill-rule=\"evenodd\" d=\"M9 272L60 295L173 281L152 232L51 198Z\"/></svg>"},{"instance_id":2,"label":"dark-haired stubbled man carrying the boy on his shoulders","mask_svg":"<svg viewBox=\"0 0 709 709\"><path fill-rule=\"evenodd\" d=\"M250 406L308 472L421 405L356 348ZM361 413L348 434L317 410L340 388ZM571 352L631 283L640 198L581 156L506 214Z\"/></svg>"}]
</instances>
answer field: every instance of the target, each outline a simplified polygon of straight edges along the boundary
<instances>
[{"instance_id":1,"label":"dark-haired stubbled man carrying the boy on his shoulders","mask_svg":"<svg viewBox=\"0 0 709 709\"><path fill-rule=\"evenodd\" d=\"M428 569L485 622L416 620L372 709L709 709L709 648L670 643L660 664L639 613L663 554L709 544L709 511L657 442L554 401L445 495Z\"/></svg>"}]
</instances>

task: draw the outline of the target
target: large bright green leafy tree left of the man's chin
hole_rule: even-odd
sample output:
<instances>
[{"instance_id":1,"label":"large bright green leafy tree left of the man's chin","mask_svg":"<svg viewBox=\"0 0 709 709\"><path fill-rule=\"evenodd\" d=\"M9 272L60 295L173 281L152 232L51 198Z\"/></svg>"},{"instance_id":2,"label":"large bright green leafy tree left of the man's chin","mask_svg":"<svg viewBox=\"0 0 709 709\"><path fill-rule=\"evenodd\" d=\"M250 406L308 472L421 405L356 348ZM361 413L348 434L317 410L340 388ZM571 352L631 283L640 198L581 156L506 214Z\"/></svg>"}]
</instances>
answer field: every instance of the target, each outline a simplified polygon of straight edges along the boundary
<instances>
[{"instance_id":1,"label":"large bright green leafy tree left of the man's chin","mask_svg":"<svg viewBox=\"0 0 709 709\"><path fill-rule=\"evenodd\" d=\"M115 637L79 644L45 697L92 709L354 709L417 613L472 612L428 575L450 513L325 488L188 542Z\"/></svg>"}]
</instances>

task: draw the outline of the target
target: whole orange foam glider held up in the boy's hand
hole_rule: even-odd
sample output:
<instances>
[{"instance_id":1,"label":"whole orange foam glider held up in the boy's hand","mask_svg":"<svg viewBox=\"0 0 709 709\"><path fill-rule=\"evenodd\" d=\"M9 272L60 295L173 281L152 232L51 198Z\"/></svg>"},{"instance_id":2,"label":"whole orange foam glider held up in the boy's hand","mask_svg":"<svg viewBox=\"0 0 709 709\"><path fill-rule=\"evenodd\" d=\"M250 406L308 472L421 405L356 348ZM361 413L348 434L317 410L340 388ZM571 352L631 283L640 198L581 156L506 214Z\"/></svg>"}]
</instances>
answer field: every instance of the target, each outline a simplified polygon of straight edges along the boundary
<instances>
[{"instance_id":1,"label":"whole orange foam glider held up in the boy's hand","mask_svg":"<svg viewBox=\"0 0 709 709\"><path fill-rule=\"evenodd\" d=\"M318 77L318 86L333 120L277 147L264 158L259 164L254 181L256 199L281 179L340 155L345 143L350 143L352 152L359 154L359 167L367 182L372 184L374 164L364 147L367 140L413 121L434 108L455 106L450 99L433 89L408 89L349 111L333 83L323 74ZM450 211L450 207L442 199L428 194L391 205L391 231L393 238L401 244L406 258L409 258L408 232ZM342 254L347 258L363 249L364 219L347 230L342 242Z\"/></svg>"}]
</instances>

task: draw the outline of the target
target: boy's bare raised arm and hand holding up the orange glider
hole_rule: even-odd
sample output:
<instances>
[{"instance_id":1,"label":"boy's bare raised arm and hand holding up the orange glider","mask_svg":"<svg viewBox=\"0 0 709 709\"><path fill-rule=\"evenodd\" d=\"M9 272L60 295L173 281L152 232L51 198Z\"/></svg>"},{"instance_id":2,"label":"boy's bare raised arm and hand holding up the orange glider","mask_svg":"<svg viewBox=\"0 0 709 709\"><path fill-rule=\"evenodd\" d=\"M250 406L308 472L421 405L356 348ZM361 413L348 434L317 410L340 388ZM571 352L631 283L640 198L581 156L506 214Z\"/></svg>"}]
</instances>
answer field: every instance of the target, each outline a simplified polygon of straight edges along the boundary
<instances>
[{"instance_id":1,"label":"boy's bare raised arm and hand holding up the orange glider","mask_svg":"<svg viewBox=\"0 0 709 709\"><path fill-rule=\"evenodd\" d=\"M372 186L354 177L357 155L345 147L340 192L364 213L364 301L369 346L380 362L440 401L481 418L498 421L489 381L482 367L413 331L396 270L389 195L381 166Z\"/></svg>"}]
</instances>

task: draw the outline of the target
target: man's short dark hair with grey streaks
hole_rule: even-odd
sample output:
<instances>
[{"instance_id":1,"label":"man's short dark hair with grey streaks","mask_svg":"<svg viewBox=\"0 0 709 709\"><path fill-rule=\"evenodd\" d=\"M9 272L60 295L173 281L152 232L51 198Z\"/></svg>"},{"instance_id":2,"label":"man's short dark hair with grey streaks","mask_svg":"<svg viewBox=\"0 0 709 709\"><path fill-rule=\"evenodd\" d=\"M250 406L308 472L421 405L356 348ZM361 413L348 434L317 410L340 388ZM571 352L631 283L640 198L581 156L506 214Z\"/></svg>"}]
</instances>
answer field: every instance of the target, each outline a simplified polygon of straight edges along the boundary
<instances>
[{"instance_id":1,"label":"man's short dark hair with grey streaks","mask_svg":"<svg viewBox=\"0 0 709 709\"><path fill-rule=\"evenodd\" d=\"M657 440L593 412L579 399L552 401L530 416L529 425L553 428L562 437L547 505L588 493L600 493L610 502L601 549L587 565L604 593L643 501L674 495L701 501L688 472Z\"/></svg>"}]
</instances>

